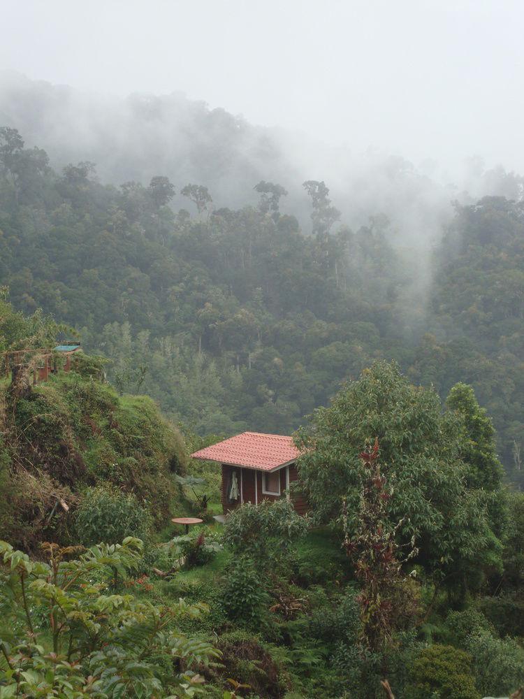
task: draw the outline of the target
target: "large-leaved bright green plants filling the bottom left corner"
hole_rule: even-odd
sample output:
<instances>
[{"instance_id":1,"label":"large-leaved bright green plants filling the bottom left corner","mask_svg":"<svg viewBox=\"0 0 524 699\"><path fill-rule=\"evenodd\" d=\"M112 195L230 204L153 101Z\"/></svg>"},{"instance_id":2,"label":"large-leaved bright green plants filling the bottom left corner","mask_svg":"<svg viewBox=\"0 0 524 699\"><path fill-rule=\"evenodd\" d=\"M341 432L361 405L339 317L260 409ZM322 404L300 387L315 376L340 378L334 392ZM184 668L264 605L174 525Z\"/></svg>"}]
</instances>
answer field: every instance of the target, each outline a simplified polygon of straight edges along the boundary
<instances>
[{"instance_id":1,"label":"large-leaved bright green plants filling the bottom left corner","mask_svg":"<svg viewBox=\"0 0 524 699\"><path fill-rule=\"evenodd\" d=\"M2 696L116 699L200 691L192 668L217 651L175 624L205 607L183 600L156 607L111 589L115 573L136 570L140 540L97 545L71 560L78 547L44 545L44 551L46 563L31 561L0 542L1 603L10 621L0 631ZM174 673L173 662L184 669Z\"/></svg>"}]
</instances>

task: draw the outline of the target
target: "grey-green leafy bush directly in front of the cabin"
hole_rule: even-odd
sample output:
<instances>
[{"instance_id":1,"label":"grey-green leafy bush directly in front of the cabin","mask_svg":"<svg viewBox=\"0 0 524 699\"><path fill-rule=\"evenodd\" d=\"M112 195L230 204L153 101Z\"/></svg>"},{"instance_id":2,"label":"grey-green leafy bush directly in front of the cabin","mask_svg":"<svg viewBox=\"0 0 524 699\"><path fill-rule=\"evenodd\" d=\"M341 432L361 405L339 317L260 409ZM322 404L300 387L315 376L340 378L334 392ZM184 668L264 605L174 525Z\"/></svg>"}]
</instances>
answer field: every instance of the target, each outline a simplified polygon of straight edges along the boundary
<instances>
[{"instance_id":1,"label":"grey-green leafy bush directly in front of the cabin","mask_svg":"<svg viewBox=\"0 0 524 699\"><path fill-rule=\"evenodd\" d=\"M307 527L307 520L297 514L289 500L264 500L260 505L247 503L228 514L224 541L264 566L283 560Z\"/></svg>"}]
</instances>

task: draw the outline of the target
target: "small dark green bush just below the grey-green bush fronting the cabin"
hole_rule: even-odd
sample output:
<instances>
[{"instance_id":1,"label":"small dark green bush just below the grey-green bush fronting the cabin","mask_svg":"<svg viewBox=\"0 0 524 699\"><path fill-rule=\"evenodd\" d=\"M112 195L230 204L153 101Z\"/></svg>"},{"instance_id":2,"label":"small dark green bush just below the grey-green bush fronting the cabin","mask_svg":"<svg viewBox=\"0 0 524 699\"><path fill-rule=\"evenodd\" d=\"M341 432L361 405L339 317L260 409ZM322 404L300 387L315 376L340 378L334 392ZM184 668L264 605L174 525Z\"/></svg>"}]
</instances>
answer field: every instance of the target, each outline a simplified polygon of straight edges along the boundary
<instances>
[{"instance_id":1,"label":"small dark green bush just below the grey-green bush fronting the cabin","mask_svg":"<svg viewBox=\"0 0 524 699\"><path fill-rule=\"evenodd\" d=\"M233 560L223 590L224 608L228 617L247 628L259 628L269 605L259 571L248 556Z\"/></svg>"}]
</instances>

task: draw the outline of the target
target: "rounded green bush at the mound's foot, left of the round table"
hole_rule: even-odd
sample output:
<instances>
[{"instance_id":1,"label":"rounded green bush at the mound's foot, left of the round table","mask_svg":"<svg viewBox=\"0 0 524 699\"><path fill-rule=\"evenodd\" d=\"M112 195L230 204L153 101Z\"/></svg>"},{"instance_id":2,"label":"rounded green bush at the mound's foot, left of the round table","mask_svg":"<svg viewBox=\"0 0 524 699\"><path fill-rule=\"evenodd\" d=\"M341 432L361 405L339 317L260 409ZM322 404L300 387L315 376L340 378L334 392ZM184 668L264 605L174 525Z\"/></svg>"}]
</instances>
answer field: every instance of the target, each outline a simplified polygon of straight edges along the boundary
<instances>
[{"instance_id":1,"label":"rounded green bush at the mound's foot, left of the round table","mask_svg":"<svg viewBox=\"0 0 524 699\"><path fill-rule=\"evenodd\" d=\"M116 543L126 536L147 540L151 518L131 493L109 486L88 488L76 512L78 540L85 546Z\"/></svg>"}]
</instances>

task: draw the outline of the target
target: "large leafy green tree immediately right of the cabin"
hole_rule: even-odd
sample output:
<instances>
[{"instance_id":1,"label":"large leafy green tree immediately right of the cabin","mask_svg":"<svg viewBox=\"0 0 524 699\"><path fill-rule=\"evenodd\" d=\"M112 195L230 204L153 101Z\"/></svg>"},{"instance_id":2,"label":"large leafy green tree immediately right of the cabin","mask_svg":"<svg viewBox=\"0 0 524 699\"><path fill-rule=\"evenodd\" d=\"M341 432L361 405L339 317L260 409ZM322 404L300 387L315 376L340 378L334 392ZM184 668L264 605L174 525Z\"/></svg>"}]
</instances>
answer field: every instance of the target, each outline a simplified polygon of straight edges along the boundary
<instances>
[{"instance_id":1,"label":"large leafy green tree immediately right of the cabin","mask_svg":"<svg viewBox=\"0 0 524 699\"><path fill-rule=\"evenodd\" d=\"M435 391L409 383L395 363L364 370L329 408L314 412L310 431L299 431L300 480L318 516L338 517L345 497L350 532L358 525L364 473L358 454L374 438L393 491L389 521L403 520L401 543L415 535L425 569L440 577L456 575L459 564L500 568L502 545L490 529L483 493L465 487L460 422L442 413Z\"/></svg>"}]
</instances>

